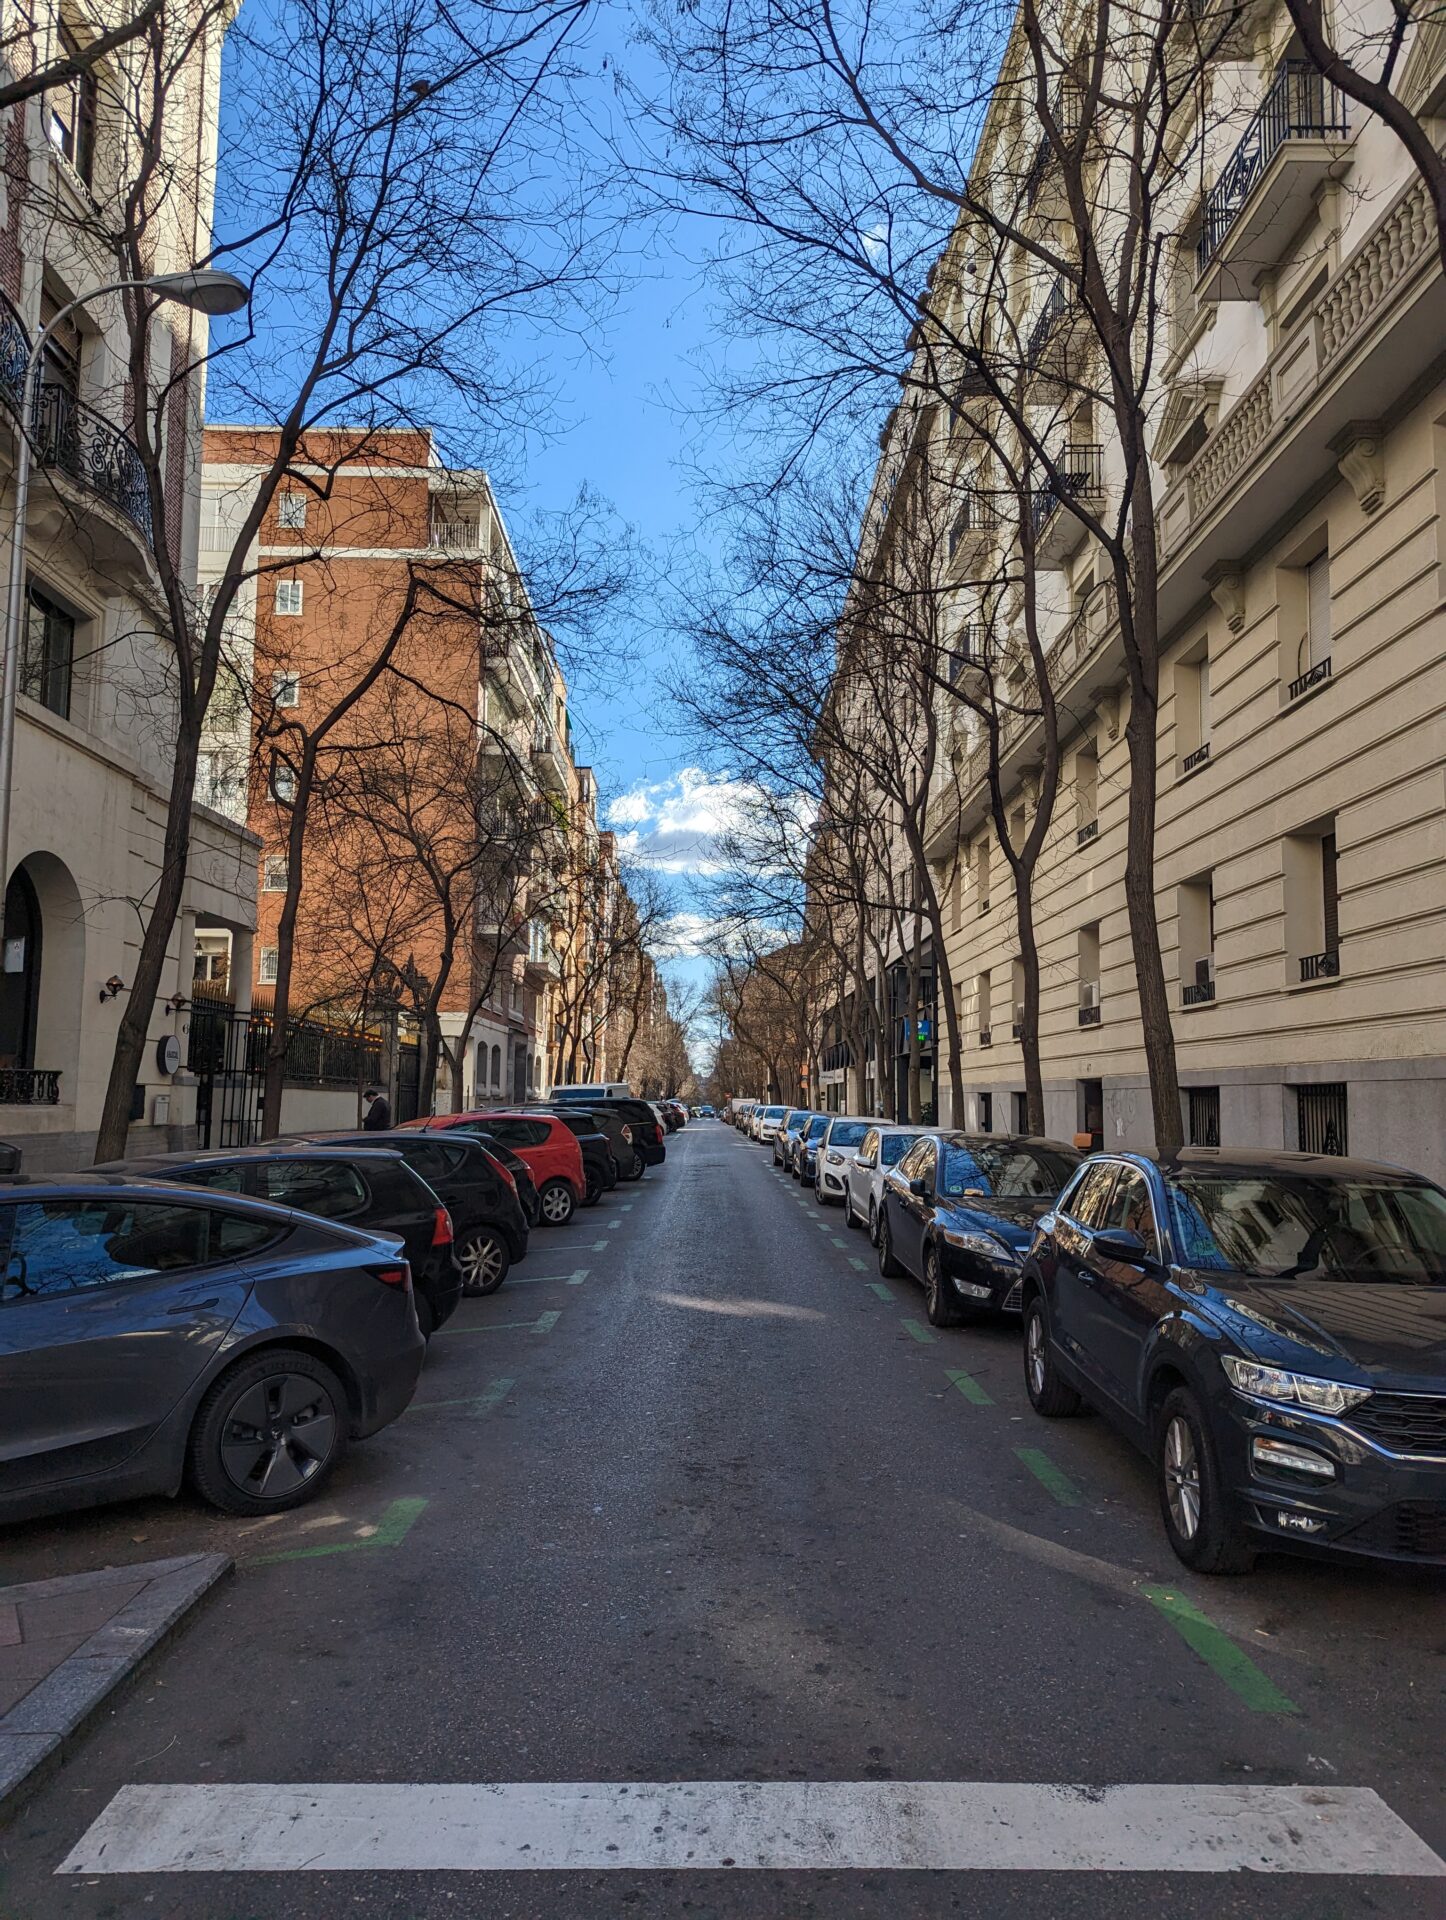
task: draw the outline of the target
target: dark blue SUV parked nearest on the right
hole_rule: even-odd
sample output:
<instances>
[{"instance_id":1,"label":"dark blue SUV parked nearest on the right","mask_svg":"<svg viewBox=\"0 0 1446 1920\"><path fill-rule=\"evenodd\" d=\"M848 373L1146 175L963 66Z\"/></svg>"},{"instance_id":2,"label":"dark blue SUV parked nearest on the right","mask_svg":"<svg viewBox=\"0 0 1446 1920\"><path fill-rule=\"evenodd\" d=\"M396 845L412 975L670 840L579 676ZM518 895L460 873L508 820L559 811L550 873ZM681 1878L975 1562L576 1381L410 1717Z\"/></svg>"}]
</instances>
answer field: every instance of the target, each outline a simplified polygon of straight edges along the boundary
<instances>
[{"instance_id":1,"label":"dark blue SUV parked nearest on the right","mask_svg":"<svg viewBox=\"0 0 1446 1920\"><path fill-rule=\"evenodd\" d=\"M1154 1461L1196 1572L1446 1565L1446 1192L1323 1154L1095 1154L1024 1267L1025 1386Z\"/></svg>"}]
</instances>

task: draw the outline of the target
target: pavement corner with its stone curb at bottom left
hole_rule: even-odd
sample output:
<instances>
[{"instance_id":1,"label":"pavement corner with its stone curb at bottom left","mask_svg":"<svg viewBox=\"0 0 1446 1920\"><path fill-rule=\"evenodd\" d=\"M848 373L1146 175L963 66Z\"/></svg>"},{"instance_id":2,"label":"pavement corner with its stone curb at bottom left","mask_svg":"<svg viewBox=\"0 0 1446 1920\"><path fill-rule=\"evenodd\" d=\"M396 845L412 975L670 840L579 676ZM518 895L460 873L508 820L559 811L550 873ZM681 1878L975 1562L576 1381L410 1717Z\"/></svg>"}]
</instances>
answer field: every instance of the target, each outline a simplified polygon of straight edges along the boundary
<instances>
[{"instance_id":1,"label":"pavement corner with its stone curb at bottom left","mask_svg":"<svg viewBox=\"0 0 1446 1920\"><path fill-rule=\"evenodd\" d=\"M188 1553L0 1588L0 1816L229 1571Z\"/></svg>"}]
</instances>

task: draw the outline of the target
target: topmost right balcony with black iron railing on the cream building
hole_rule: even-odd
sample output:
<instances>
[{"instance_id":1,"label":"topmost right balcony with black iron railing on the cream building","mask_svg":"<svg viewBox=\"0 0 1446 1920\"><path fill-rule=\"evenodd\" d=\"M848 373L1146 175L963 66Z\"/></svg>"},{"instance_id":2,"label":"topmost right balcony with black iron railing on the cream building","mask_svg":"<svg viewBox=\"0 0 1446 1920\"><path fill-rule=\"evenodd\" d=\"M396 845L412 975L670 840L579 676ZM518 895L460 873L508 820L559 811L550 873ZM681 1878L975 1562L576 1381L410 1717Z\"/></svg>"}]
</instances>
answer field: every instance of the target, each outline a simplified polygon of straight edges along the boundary
<instances>
[{"instance_id":1,"label":"topmost right balcony with black iron railing on the cream building","mask_svg":"<svg viewBox=\"0 0 1446 1920\"><path fill-rule=\"evenodd\" d=\"M1344 94L1308 61L1281 61L1206 196L1196 244L1200 300L1256 298L1260 275L1279 263L1348 144Z\"/></svg>"}]
</instances>

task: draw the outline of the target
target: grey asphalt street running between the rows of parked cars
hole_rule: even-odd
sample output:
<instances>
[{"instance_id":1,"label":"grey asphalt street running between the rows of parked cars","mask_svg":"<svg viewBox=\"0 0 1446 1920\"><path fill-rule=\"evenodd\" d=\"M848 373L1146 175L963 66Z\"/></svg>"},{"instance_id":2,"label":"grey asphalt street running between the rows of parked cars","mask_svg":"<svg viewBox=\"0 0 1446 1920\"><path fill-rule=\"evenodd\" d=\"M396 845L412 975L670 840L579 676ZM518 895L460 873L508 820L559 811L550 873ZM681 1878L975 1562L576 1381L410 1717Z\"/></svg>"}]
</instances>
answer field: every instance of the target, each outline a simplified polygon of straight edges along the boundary
<instances>
[{"instance_id":1,"label":"grey asphalt street running between the rows of parked cars","mask_svg":"<svg viewBox=\"0 0 1446 1920\"><path fill-rule=\"evenodd\" d=\"M1446 1914L1440 1580L1185 1574L1012 1329L931 1334L722 1123L463 1302L317 1507L0 1555L213 1546L4 1920Z\"/></svg>"}]
</instances>

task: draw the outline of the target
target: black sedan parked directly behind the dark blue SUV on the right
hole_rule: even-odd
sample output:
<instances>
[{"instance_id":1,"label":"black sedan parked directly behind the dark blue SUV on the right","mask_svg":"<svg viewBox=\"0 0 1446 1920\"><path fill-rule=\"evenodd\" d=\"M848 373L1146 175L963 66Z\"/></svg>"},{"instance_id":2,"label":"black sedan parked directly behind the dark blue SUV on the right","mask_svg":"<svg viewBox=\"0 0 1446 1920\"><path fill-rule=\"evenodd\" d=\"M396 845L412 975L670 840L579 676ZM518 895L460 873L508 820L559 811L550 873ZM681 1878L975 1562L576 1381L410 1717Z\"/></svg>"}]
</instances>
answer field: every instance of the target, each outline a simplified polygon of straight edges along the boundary
<instances>
[{"instance_id":1,"label":"black sedan parked directly behind the dark blue SUV on the right","mask_svg":"<svg viewBox=\"0 0 1446 1920\"><path fill-rule=\"evenodd\" d=\"M1079 1158L1027 1135L920 1135L883 1175L880 1273L924 1284L931 1327L1018 1313L1035 1223Z\"/></svg>"}]
</instances>

